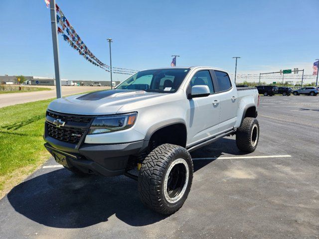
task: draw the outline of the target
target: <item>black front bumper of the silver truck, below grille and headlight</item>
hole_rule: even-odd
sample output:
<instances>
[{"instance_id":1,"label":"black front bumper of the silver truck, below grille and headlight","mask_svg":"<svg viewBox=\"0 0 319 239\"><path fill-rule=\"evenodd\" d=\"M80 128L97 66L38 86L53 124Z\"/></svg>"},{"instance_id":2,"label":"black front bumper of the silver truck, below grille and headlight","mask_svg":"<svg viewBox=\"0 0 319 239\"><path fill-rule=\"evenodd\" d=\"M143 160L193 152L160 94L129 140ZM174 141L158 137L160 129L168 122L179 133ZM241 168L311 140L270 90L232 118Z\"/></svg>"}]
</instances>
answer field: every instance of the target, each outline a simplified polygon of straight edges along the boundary
<instances>
[{"instance_id":1,"label":"black front bumper of the silver truck, below grille and headlight","mask_svg":"<svg viewBox=\"0 0 319 239\"><path fill-rule=\"evenodd\" d=\"M144 141L121 144L86 144L79 148L67 147L63 142L54 144L45 138L45 148L54 156L54 152L65 155L69 167L76 167L84 173L117 176L125 173L130 155L138 154ZM52 141L55 141L51 138ZM56 140L58 141L58 140Z\"/></svg>"}]
</instances>

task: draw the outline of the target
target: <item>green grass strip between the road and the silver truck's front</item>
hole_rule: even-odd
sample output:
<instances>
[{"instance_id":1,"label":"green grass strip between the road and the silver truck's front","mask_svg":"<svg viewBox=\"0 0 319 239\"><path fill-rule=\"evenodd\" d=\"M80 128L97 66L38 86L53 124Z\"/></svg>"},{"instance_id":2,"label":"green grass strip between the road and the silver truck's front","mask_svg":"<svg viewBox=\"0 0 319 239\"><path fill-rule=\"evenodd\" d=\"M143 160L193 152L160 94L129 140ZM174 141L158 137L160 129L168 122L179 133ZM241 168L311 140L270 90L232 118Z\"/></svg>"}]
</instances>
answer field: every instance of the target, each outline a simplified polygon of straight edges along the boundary
<instances>
[{"instance_id":1,"label":"green grass strip between the road and the silver truck's front","mask_svg":"<svg viewBox=\"0 0 319 239\"><path fill-rule=\"evenodd\" d=\"M0 108L0 198L49 157L42 135L52 100Z\"/></svg>"}]
</instances>

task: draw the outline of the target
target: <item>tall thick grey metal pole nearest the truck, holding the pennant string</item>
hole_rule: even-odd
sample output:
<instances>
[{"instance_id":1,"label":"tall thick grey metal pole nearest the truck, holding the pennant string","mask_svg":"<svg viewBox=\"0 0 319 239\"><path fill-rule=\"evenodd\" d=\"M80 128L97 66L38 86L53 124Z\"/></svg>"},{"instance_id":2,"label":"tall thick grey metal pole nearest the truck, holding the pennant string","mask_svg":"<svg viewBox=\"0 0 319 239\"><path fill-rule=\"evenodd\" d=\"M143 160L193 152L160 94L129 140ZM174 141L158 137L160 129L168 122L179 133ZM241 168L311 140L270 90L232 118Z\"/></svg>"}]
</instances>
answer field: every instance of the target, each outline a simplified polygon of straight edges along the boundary
<instances>
[{"instance_id":1,"label":"tall thick grey metal pole nearest the truck, holding the pennant string","mask_svg":"<svg viewBox=\"0 0 319 239\"><path fill-rule=\"evenodd\" d=\"M61 98L62 93L61 93L60 68L59 68L59 42L58 42L58 29L56 26L55 0L50 0L50 14L51 14L51 30L52 30L52 42L53 42L56 98Z\"/></svg>"}]
</instances>

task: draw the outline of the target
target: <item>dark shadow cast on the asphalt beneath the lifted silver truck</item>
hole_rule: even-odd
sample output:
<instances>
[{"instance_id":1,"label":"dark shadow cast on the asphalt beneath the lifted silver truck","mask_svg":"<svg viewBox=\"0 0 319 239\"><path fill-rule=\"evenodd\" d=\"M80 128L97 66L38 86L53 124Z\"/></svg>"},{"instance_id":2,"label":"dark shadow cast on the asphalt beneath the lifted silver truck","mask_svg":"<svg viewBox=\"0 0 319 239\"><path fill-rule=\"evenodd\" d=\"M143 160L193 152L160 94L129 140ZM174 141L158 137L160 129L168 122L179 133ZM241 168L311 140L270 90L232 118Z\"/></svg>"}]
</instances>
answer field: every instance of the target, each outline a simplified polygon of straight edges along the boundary
<instances>
[{"instance_id":1,"label":"dark shadow cast on the asphalt beneath the lifted silver truck","mask_svg":"<svg viewBox=\"0 0 319 239\"><path fill-rule=\"evenodd\" d=\"M233 149L233 141L221 139L192 152L193 157L218 157L222 155L217 149L221 145L226 149L224 152L238 154ZM194 171L213 161L195 160ZM128 177L78 177L65 169L43 173L20 183L8 193L7 199L16 212L54 228L85 228L107 222L112 215L135 227L169 217L144 207L138 197L137 182Z\"/></svg>"}]
</instances>

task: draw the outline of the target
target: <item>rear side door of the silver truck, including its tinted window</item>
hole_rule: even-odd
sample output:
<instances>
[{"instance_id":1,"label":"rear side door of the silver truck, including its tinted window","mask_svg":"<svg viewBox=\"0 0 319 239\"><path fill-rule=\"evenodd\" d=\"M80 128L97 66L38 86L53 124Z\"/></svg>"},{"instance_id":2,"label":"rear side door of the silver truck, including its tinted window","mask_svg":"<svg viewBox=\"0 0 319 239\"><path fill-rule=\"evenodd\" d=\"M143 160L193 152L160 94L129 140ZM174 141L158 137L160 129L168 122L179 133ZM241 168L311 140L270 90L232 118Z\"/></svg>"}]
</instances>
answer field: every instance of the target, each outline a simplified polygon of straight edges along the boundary
<instances>
[{"instance_id":1,"label":"rear side door of the silver truck, including its tinted window","mask_svg":"<svg viewBox=\"0 0 319 239\"><path fill-rule=\"evenodd\" d=\"M220 119L218 131L231 129L236 122L238 108L237 88L232 86L226 72L213 71L213 82L216 85L216 97L220 101Z\"/></svg>"}]
</instances>

